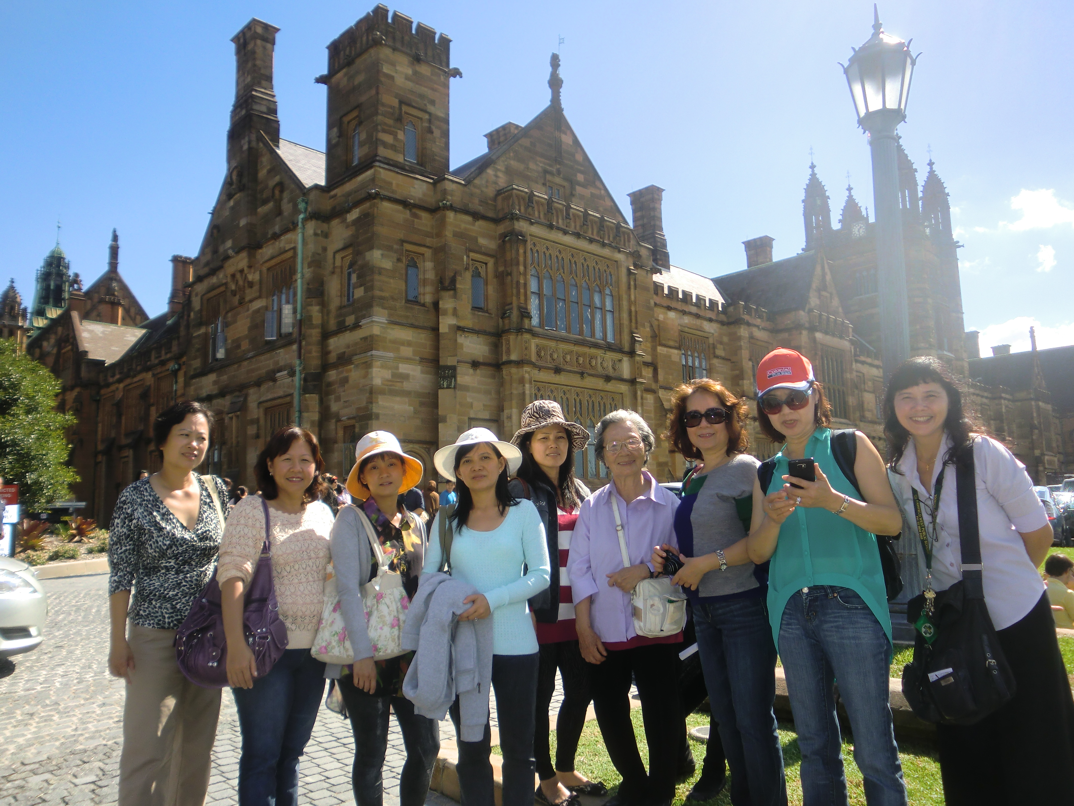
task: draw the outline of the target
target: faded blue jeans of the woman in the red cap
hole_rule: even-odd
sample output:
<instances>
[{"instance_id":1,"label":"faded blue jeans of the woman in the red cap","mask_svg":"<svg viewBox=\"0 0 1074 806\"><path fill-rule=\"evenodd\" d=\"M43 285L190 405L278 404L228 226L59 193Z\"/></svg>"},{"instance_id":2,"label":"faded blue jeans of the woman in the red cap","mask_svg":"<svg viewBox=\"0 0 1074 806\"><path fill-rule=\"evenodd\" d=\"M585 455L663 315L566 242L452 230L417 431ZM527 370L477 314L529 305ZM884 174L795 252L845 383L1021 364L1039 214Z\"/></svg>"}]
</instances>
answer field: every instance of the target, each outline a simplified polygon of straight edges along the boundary
<instances>
[{"instance_id":1,"label":"faded blue jeans of the woman in the red cap","mask_svg":"<svg viewBox=\"0 0 1074 806\"><path fill-rule=\"evenodd\" d=\"M906 785L888 704L890 643L850 588L794 593L780 622L780 658L801 748L804 806L845 804L846 775L834 682L854 734L869 806L904 806Z\"/></svg>"}]
</instances>

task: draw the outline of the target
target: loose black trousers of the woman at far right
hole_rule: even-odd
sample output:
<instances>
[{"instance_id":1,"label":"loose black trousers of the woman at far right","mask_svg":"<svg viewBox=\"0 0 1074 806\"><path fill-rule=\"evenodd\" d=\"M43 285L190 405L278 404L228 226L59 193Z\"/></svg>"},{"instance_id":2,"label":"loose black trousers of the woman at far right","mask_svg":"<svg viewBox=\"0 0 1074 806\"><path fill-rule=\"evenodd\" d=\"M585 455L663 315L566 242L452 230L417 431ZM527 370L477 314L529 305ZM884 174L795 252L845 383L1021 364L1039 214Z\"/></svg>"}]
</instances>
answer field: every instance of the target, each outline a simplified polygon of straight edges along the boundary
<instances>
[{"instance_id":1,"label":"loose black trousers of the woman at far right","mask_svg":"<svg viewBox=\"0 0 1074 806\"><path fill-rule=\"evenodd\" d=\"M1047 594L997 632L1018 690L974 725L939 725L947 806L1056 803L1074 771L1074 700Z\"/></svg>"}]
</instances>

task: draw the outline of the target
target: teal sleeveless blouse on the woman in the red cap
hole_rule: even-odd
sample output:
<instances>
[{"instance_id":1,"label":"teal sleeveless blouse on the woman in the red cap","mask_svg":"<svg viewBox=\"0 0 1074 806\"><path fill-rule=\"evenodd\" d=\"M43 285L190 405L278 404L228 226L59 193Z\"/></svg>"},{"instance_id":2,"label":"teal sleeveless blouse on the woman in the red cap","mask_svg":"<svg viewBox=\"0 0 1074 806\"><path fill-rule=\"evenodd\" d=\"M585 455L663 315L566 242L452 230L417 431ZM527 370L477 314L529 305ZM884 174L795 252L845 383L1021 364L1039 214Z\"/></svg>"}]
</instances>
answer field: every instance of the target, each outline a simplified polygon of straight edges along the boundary
<instances>
[{"instance_id":1,"label":"teal sleeveless blouse on the woman in the red cap","mask_svg":"<svg viewBox=\"0 0 1074 806\"><path fill-rule=\"evenodd\" d=\"M766 494L784 485L787 457L775 455L775 471ZM831 429L819 428L806 444L812 457L839 493L860 500L831 455ZM891 641L891 618L887 610L887 589L880 564L876 535L821 507L799 506L780 527L780 538L768 570L768 617L772 639L780 646L783 608L795 591L815 585L830 585L855 591L880 621Z\"/></svg>"}]
</instances>

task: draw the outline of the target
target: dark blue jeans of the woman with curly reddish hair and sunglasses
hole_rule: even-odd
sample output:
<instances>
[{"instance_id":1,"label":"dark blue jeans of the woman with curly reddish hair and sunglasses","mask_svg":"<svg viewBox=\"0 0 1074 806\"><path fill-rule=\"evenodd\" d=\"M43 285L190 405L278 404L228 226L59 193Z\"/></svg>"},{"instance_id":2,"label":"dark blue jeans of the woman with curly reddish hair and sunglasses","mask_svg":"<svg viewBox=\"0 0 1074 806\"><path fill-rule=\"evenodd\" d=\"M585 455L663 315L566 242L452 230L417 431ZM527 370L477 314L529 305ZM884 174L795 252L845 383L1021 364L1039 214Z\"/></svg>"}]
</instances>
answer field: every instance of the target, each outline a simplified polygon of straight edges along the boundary
<instances>
[{"instance_id":1,"label":"dark blue jeans of the woman with curly reddish hair and sunglasses","mask_svg":"<svg viewBox=\"0 0 1074 806\"><path fill-rule=\"evenodd\" d=\"M765 600L691 603L713 719L731 772L735 806L787 802L775 728L775 647Z\"/></svg>"}]
</instances>

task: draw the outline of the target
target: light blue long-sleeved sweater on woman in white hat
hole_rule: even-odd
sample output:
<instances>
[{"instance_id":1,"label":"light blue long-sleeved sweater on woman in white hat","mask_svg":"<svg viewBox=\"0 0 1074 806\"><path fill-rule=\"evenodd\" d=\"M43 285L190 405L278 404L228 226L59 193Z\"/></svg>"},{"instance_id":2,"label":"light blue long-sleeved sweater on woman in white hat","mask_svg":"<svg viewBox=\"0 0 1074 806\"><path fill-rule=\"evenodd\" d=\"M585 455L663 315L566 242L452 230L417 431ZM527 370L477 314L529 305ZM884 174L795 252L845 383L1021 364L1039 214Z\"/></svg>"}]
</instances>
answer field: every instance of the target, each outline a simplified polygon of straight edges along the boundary
<instances>
[{"instance_id":1,"label":"light blue long-sleeved sweater on woman in white hat","mask_svg":"<svg viewBox=\"0 0 1074 806\"><path fill-rule=\"evenodd\" d=\"M440 515L429 532L423 574L433 574L440 564ZM522 573L523 563L526 573ZM451 575L469 582L489 600L492 608L492 651L494 654L533 654L537 636L526 600L549 584L548 546L545 524L528 501L508 508L504 522L491 532L455 530L451 544Z\"/></svg>"}]
</instances>

